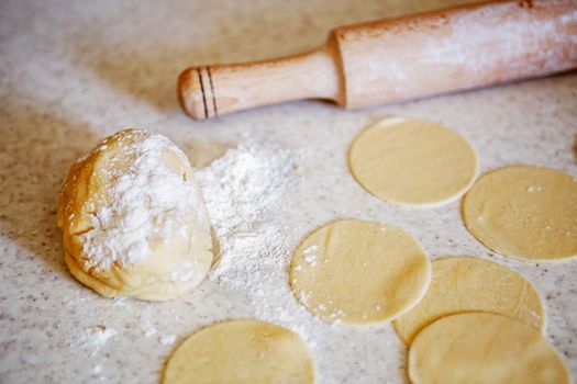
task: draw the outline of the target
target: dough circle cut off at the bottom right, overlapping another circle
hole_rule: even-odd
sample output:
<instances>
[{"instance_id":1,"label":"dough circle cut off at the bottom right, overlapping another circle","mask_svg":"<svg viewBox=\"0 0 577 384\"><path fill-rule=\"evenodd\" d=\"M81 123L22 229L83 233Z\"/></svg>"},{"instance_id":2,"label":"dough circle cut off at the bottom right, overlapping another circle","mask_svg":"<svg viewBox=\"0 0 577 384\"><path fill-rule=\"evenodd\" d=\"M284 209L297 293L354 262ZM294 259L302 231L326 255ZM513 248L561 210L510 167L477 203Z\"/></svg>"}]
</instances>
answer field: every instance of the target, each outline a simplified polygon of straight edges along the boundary
<instances>
[{"instance_id":1,"label":"dough circle cut off at the bottom right, overlapping another circle","mask_svg":"<svg viewBox=\"0 0 577 384\"><path fill-rule=\"evenodd\" d=\"M534 327L496 314L442 318L409 348L411 383L565 384L562 358Z\"/></svg>"}]
</instances>

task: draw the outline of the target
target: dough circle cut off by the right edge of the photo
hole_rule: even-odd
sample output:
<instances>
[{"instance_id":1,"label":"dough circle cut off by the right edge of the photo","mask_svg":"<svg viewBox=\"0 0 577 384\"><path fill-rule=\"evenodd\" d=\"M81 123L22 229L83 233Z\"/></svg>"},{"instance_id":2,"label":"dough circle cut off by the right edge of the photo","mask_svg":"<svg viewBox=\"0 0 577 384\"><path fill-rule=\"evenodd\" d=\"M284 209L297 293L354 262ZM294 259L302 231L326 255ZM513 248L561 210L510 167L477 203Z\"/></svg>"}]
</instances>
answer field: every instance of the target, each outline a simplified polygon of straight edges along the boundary
<instances>
[{"instance_id":1,"label":"dough circle cut off by the right edge of the photo","mask_svg":"<svg viewBox=\"0 0 577 384\"><path fill-rule=\"evenodd\" d=\"M577 179L550 168L515 166L481 177L463 201L470 233L521 260L577 255Z\"/></svg>"}]
</instances>

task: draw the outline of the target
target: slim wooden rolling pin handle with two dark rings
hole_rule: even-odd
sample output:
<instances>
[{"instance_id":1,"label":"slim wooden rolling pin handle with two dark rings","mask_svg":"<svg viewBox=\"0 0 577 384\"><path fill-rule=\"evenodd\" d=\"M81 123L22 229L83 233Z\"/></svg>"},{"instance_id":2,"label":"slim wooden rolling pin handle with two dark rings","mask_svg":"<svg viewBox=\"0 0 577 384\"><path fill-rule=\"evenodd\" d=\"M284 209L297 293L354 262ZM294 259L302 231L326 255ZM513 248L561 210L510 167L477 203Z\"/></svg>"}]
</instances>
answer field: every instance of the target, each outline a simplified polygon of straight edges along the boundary
<instances>
[{"instance_id":1,"label":"slim wooden rolling pin handle with two dark rings","mask_svg":"<svg viewBox=\"0 0 577 384\"><path fill-rule=\"evenodd\" d=\"M344 100L341 70L331 44L280 59L200 66L178 78L178 100L196 120L301 99Z\"/></svg>"}]
</instances>

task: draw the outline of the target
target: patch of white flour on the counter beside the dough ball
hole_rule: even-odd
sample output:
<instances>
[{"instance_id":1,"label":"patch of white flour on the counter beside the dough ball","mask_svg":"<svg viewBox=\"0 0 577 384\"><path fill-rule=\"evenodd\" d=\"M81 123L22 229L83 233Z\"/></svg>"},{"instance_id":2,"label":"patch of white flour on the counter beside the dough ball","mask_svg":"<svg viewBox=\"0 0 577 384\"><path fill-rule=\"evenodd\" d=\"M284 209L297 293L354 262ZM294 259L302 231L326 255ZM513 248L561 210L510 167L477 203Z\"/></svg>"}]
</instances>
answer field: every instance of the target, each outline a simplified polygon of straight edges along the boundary
<instances>
[{"instance_id":1,"label":"patch of white flour on the counter beside the dough ball","mask_svg":"<svg viewBox=\"0 0 577 384\"><path fill-rule=\"evenodd\" d=\"M257 318L298 331L313 347L331 326L307 313L289 289L287 264L296 244L281 221L284 197L300 179L304 156L275 145L240 146L197 178L221 246L209 279L247 296Z\"/></svg>"}]
</instances>

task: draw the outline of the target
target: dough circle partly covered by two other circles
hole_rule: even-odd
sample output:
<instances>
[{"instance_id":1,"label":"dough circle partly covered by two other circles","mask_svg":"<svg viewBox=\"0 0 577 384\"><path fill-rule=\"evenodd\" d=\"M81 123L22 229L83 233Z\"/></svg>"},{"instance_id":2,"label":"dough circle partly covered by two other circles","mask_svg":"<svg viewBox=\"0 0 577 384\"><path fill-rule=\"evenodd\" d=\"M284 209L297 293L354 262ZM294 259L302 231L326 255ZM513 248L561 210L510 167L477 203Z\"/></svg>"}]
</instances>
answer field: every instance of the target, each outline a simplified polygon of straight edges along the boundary
<instances>
[{"instance_id":1,"label":"dough circle partly covered by two other circles","mask_svg":"<svg viewBox=\"0 0 577 384\"><path fill-rule=\"evenodd\" d=\"M539 293L518 272L473 257L433 261L429 290L419 304L395 320L407 343L435 320L458 313L488 312L509 316L543 330L545 309Z\"/></svg>"}]
</instances>

